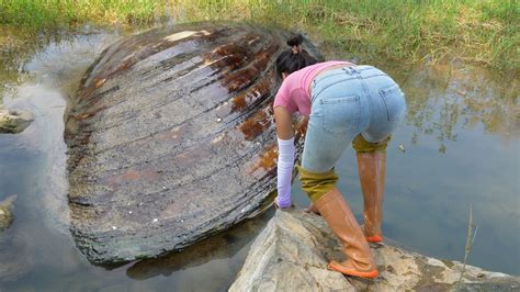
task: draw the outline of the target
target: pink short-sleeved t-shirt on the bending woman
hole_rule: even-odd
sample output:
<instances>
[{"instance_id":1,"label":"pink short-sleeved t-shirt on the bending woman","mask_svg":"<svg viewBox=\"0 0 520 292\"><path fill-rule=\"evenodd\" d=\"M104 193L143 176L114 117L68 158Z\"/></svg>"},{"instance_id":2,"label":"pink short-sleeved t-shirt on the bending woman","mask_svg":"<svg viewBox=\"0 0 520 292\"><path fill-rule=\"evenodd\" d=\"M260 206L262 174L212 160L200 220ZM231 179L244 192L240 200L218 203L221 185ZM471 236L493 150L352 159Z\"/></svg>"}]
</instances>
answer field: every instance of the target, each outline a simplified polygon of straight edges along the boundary
<instances>
[{"instance_id":1,"label":"pink short-sleeved t-shirt on the bending woman","mask_svg":"<svg viewBox=\"0 0 520 292\"><path fill-rule=\"evenodd\" d=\"M344 60L329 60L307 66L295 72L292 72L283 80L274 98L273 109L281 105L291 114L299 112L308 116L310 114L310 92L309 86L314 77L323 69L336 65L352 65Z\"/></svg>"}]
</instances>

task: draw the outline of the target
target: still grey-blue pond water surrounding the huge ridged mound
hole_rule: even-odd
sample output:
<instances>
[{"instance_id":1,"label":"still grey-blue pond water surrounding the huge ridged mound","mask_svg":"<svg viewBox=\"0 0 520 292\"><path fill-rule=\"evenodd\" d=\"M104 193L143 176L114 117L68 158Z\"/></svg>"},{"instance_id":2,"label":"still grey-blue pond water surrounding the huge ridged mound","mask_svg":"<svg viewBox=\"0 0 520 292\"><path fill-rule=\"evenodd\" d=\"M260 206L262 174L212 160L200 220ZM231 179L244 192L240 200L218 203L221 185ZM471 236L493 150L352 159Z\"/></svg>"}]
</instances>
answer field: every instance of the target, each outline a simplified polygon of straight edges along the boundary
<instances>
[{"instance_id":1,"label":"still grey-blue pond water surrounding the huge ridged mound","mask_svg":"<svg viewBox=\"0 0 520 292\"><path fill-rule=\"evenodd\" d=\"M15 221L0 235L1 291L225 290L272 215L156 260L122 267L84 260L68 232L63 115L82 72L117 37L80 34L43 46L15 67L18 78L0 74L5 106L35 115L22 134L0 135L0 201L18 194ZM462 259L473 207L478 231L470 263L519 274L518 81L462 65L384 69L403 85L409 106L388 149L385 236L429 256ZM337 171L360 218L351 149ZM308 202L297 183L293 192L298 205Z\"/></svg>"}]
</instances>

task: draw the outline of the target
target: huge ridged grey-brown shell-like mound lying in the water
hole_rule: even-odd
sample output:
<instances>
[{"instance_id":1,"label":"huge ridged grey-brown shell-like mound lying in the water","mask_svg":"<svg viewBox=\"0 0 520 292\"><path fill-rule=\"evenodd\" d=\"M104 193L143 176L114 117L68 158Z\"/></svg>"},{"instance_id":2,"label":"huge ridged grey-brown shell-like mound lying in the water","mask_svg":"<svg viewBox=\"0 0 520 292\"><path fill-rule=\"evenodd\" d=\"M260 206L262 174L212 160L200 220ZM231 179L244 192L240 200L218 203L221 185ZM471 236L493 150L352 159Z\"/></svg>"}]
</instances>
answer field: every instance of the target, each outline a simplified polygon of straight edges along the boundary
<instances>
[{"instance_id":1,"label":"huge ridged grey-brown shell-like mound lying in the water","mask_svg":"<svg viewBox=\"0 0 520 292\"><path fill-rule=\"evenodd\" d=\"M90 261L180 249L269 205L273 63L287 35L203 23L152 30L102 53L65 133L71 231Z\"/></svg>"}]
</instances>

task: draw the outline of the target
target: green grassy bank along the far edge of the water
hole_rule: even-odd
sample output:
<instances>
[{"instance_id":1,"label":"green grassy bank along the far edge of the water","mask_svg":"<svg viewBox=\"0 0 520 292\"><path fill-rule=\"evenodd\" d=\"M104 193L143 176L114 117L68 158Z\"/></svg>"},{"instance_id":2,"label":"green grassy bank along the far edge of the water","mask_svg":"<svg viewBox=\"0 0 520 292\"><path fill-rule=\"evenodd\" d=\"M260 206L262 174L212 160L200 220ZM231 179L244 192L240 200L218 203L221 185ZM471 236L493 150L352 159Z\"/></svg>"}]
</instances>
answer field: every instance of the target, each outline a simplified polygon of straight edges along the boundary
<instances>
[{"instance_id":1,"label":"green grassy bank along the far edge of the water","mask_svg":"<svg viewBox=\"0 0 520 292\"><path fill-rule=\"evenodd\" d=\"M94 23L246 20L308 32L364 63L460 58L520 68L516 0L0 0L0 25L42 32Z\"/></svg>"}]
</instances>

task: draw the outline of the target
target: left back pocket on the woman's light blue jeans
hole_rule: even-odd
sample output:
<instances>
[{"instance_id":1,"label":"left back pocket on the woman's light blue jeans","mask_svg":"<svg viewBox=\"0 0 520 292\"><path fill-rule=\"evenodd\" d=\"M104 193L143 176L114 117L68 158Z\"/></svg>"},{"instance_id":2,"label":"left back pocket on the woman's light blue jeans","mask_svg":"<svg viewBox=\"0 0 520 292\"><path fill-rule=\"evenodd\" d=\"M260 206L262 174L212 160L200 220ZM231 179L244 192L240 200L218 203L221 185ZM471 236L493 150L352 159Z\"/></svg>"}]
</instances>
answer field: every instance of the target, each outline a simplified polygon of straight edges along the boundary
<instances>
[{"instance_id":1,"label":"left back pocket on the woman's light blue jeans","mask_svg":"<svg viewBox=\"0 0 520 292\"><path fill-rule=\"evenodd\" d=\"M332 134L355 131L360 120L359 100L358 96L321 99L324 131Z\"/></svg>"}]
</instances>

